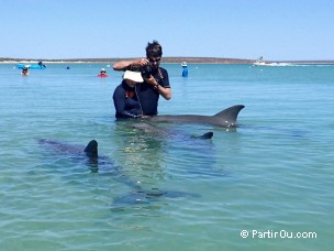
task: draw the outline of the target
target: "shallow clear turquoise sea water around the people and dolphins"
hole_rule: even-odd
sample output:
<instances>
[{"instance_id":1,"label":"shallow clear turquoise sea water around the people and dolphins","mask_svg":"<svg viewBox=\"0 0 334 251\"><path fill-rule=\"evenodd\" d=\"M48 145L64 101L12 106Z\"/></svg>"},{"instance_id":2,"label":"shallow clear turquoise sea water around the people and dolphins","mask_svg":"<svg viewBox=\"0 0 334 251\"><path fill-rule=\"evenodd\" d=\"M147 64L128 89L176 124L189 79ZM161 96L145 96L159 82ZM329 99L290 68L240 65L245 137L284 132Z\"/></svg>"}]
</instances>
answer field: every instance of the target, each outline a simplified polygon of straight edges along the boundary
<instances>
[{"instance_id":1,"label":"shallow clear turquoise sea water around the people and dolphins","mask_svg":"<svg viewBox=\"0 0 334 251\"><path fill-rule=\"evenodd\" d=\"M182 78L165 65L172 99L159 113L246 107L236 130L163 124L176 133L160 138L115 122L121 73L66 66L22 77L0 65L1 250L331 250L334 66L189 65ZM113 163L92 173L36 138L96 139ZM120 203L132 188L114 166L144 189L196 196Z\"/></svg>"}]
</instances>

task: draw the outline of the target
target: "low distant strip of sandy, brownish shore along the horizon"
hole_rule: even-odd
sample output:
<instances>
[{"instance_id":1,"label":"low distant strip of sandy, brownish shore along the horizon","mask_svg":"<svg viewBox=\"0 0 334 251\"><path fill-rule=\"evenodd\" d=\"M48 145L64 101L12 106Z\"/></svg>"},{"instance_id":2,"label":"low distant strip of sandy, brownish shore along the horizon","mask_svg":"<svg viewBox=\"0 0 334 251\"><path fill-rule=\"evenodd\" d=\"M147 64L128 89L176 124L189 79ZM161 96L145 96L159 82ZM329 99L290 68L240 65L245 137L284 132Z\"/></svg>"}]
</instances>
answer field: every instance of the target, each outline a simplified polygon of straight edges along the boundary
<instances>
[{"instance_id":1,"label":"low distant strip of sandy, brownish shore along the horizon","mask_svg":"<svg viewBox=\"0 0 334 251\"><path fill-rule=\"evenodd\" d=\"M9 58L0 57L0 64L111 64L119 61L129 61L137 57L127 58L71 58L71 59L30 59L30 58ZM222 57L163 57L163 64L254 64L256 59L238 59ZM289 64L334 64L334 61L266 61L266 63L289 63Z\"/></svg>"}]
</instances>

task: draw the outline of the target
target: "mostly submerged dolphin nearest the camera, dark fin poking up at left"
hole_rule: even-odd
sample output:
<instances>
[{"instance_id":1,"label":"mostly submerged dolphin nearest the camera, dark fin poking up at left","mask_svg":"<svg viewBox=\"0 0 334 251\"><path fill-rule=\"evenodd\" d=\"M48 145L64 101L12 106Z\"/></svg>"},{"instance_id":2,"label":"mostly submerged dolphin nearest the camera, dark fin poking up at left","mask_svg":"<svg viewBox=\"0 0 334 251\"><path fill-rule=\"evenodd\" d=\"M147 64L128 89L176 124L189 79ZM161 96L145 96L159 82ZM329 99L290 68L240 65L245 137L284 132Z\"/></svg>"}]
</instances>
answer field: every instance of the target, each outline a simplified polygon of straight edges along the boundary
<instances>
[{"instance_id":1,"label":"mostly submerged dolphin nearest the camera, dark fin poking up at left","mask_svg":"<svg viewBox=\"0 0 334 251\"><path fill-rule=\"evenodd\" d=\"M172 190L160 190L157 188L153 188L152 190L144 190L140 183L132 181L123 174L121 168L116 166L113 161L108 156L98 155L98 142L96 140L91 140L86 146L69 144L56 140L47 140L47 139L37 139L37 142L41 145L47 146L58 154L63 154L76 160L88 160L88 164L91 167L92 172L97 173L100 167L103 165L109 166L109 170L112 171L114 178L127 185L132 188L130 195L122 196L116 199L116 203L126 200L126 203L148 203L147 199L156 198L156 197L180 197L180 196L190 196L190 197L199 197L196 194L182 193L182 192L172 192ZM111 168L110 168L111 167Z\"/></svg>"}]
</instances>

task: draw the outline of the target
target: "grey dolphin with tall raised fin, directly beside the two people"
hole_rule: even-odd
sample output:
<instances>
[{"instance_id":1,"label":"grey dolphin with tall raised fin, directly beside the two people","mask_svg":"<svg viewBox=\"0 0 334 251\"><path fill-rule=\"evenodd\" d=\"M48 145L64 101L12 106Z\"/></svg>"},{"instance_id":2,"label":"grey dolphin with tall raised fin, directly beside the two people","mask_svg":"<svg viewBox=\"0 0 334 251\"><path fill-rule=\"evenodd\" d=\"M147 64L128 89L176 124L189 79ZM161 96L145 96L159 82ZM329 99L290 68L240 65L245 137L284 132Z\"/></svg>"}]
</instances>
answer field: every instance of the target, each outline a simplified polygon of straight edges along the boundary
<instances>
[{"instance_id":1,"label":"grey dolphin with tall raised fin, directly beside the two people","mask_svg":"<svg viewBox=\"0 0 334 251\"><path fill-rule=\"evenodd\" d=\"M218 112L214 116L199 116L199 114L166 114L155 116L149 118L155 122L181 122L181 123L205 123L223 128L235 128L237 126L236 119L238 112L244 108L243 105L229 107L225 110Z\"/></svg>"}]
</instances>

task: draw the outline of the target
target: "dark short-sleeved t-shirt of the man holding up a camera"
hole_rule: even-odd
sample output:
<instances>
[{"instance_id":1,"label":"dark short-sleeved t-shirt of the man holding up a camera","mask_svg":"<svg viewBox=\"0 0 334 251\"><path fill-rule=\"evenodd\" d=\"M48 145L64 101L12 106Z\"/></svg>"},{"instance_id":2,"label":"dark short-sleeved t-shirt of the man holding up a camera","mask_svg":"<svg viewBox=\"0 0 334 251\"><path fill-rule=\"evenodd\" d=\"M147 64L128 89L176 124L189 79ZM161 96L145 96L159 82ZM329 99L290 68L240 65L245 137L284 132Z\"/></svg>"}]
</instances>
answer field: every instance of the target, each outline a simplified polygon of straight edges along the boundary
<instances>
[{"instance_id":1,"label":"dark short-sleeved t-shirt of the man holding up a camera","mask_svg":"<svg viewBox=\"0 0 334 251\"><path fill-rule=\"evenodd\" d=\"M152 73L152 76L160 86L170 88L168 73L165 68L159 67L158 70ZM145 81L137 84L136 90L143 113L145 116L156 116L158 113L159 92Z\"/></svg>"}]
</instances>

